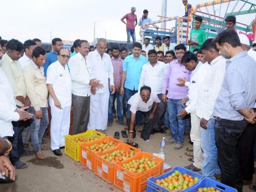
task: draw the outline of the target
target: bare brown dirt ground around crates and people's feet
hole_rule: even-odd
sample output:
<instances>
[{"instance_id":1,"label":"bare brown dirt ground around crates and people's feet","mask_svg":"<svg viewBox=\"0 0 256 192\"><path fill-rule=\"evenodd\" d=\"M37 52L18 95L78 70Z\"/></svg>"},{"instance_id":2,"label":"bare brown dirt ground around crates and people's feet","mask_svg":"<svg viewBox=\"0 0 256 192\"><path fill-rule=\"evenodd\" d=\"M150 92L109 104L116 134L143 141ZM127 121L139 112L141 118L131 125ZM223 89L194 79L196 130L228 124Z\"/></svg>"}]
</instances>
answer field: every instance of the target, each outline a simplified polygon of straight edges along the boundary
<instances>
[{"instance_id":1,"label":"bare brown dirt ground around crates and people's feet","mask_svg":"<svg viewBox=\"0 0 256 192\"><path fill-rule=\"evenodd\" d=\"M112 127L108 127L107 135L113 137L115 131L123 130L124 126L118 126L113 123ZM120 134L121 137L121 134ZM143 151L158 152L160 141L164 135L155 133L151 135L150 141L145 142L140 138L140 133L137 133L135 142L139 144L139 148ZM120 138L126 142L126 139ZM48 142L48 145L50 143ZM185 137L184 147L180 150L174 150L173 145L166 145L165 162L174 166L186 166L190 162L185 153L185 146L190 146L188 137ZM37 160L35 155L30 157L21 157L21 160L26 162L29 167L23 170L16 170L18 179L14 183L0 184L1 192L76 192L76 191L120 191L112 184L108 184L90 170L75 162L64 154L64 149L61 149L63 156L57 157L52 151L45 151L48 156L46 160ZM256 183L256 177L254 174ZM244 187L245 192L251 191L247 186Z\"/></svg>"}]
</instances>

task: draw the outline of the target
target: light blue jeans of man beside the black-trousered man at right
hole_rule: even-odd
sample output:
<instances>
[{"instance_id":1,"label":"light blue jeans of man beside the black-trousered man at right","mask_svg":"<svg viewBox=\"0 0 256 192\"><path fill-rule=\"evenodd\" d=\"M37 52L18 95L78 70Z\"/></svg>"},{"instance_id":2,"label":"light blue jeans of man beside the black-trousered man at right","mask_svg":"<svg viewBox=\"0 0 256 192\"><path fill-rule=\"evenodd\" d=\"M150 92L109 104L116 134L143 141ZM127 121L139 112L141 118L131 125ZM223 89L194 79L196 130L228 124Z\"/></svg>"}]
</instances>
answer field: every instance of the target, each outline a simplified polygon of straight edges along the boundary
<instances>
[{"instance_id":1,"label":"light blue jeans of man beside the black-trousered man at right","mask_svg":"<svg viewBox=\"0 0 256 192\"><path fill-rule=\"evenodd\" d=\"M201 127L201 148L203 151L202 175L215 179L215 174L221 174L218 165L218 149L215 144L215 119L209 119L207 129Z\"/></svg>"}]
</instances>

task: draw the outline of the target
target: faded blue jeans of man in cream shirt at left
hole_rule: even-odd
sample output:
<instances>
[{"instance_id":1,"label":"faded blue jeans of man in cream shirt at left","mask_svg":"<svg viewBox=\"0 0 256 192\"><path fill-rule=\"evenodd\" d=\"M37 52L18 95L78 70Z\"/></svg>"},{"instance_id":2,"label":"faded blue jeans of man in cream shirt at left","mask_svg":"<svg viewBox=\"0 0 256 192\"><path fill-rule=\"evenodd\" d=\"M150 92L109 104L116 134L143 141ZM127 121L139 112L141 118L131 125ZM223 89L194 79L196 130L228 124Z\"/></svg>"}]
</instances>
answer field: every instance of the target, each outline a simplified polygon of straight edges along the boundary
<instances>
[{"instance_id":1,"label":"faded blue jeans of man in cream shirt at left","mask_svg":"<svg viewBox=\"0 0 256 192\"><path fill-rule=\"evenodd\" d=\"M30 107L29 110L30 113L34 114L30 124L30 137L34 152L41 151L42 138L49 124L47 107L41 107L41 110L43 114L41 119L35 117L34 107Z\"/></svg>"}]
</instances>

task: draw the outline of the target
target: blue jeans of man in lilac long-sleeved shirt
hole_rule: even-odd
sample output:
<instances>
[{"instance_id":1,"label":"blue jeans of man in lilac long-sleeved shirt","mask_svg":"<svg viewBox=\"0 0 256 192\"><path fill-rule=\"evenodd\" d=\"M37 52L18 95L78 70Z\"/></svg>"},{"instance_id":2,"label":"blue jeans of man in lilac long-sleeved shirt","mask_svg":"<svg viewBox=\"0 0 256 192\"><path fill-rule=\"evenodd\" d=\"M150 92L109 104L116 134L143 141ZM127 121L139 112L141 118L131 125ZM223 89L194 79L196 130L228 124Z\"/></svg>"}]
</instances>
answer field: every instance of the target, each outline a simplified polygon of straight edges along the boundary
<instances>
[{"instance_id":1,"label":"blue jeans of man in lilac long-sleeved shirt","mask_svg":"<svg viewBox=\"0 0 256 192\"><path fill-rule=\"evenodd\" d=\"M177 114L185 108L185 105L182 106L181 101L182 99L167 100L171 137L178 143L183 143L184 141L184 130L186 124L185 117L180 118L177 116Z\"/></svg>"}]
</instances>

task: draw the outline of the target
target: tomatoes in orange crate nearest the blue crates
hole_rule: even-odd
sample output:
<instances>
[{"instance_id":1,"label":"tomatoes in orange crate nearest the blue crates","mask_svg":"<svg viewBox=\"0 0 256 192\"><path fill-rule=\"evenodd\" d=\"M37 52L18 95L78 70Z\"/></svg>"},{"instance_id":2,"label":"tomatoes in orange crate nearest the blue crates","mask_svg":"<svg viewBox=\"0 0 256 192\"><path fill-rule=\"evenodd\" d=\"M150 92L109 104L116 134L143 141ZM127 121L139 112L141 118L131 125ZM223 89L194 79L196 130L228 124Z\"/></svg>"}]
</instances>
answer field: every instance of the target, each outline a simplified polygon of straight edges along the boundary
<instances>
[{"instance_id":1,"label":"tomatoes in orange crate nearest the blue crates","mask_svg":"<svg viewBox=\"0 0 256 192\"><path fill-rule=\"evenodd\" d=\"M123 168L136 173L148 171L149 169L154 168L156 165L155 161L142 157L137 160L132 160L129 163L124 163L122 166Z\"/></svg>"}]
</instances>

